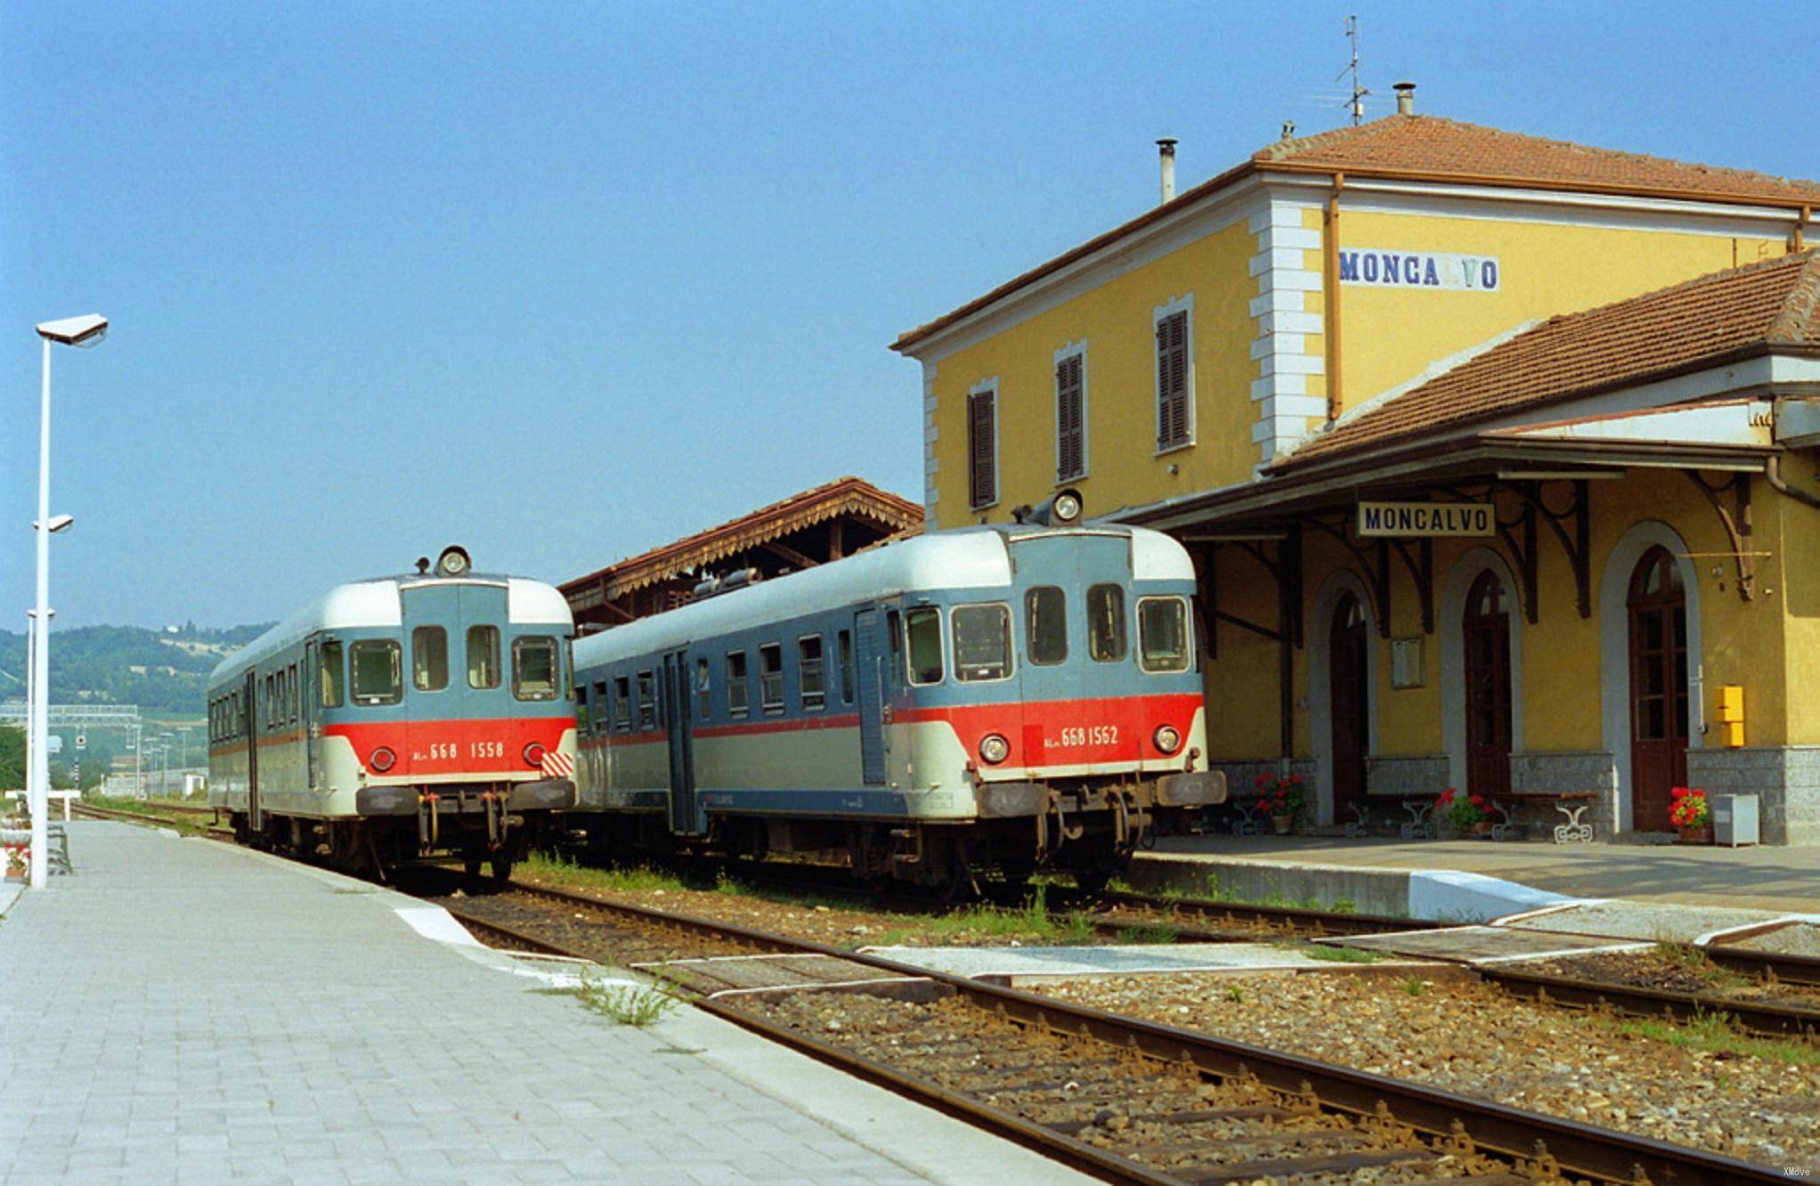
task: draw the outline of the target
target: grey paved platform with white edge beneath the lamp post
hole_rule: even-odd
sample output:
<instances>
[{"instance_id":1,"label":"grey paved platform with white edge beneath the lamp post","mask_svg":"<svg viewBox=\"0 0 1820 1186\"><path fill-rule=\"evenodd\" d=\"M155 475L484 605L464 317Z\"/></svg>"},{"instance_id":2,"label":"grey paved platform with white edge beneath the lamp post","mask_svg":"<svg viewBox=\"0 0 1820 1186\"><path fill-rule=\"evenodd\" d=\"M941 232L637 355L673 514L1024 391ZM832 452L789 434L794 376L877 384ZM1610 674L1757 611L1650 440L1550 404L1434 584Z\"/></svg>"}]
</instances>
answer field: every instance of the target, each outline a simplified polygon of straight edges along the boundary
<instances>
[{"instance_id":1,"label":"grey paved platform with white edge beneath the lamp post","mask_svg":"<svg viewBox=\"0 0 1820 1186\"><path fill-rule=\"evenodd\" d=\"M69 833L0 919L4 1182L1083 1181L697 1010L615 1026L400 895Z\"/></svg>"}]
</instances>

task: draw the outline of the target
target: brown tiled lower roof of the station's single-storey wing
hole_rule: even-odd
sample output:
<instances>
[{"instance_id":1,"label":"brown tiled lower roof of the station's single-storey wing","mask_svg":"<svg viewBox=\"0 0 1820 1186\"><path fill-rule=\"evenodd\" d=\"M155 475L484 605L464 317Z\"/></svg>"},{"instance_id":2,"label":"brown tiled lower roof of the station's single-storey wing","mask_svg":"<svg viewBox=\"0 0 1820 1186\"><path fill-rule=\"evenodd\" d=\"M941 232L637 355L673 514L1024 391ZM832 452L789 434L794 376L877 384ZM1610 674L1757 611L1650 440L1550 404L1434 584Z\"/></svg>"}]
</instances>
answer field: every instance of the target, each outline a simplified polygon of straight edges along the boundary
<instances>
[{"instance_id":1,"label":"brown tiled lower roof of the station's single-storey wing","mask_svg":"<svg viewBox=\"0 0 1820 1186\"><path fill-rule=\"evenodd\" d=\"M1820 349L1820 251L1552 317L1418 387L1343 417L1272 469L1412 435L1432 438L1436 431L1647 382L1753 346Z\"/></svg>"}]
</instances>

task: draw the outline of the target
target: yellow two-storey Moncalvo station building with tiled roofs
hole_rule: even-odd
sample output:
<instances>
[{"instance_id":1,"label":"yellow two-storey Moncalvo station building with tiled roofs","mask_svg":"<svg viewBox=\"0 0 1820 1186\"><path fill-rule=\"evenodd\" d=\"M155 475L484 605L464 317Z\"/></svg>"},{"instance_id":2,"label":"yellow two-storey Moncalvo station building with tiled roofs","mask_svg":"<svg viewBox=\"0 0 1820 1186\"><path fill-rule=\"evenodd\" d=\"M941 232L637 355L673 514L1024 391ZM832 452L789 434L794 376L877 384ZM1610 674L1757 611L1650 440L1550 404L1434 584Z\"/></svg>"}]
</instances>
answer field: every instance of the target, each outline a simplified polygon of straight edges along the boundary
<instances>
[{"instance_id":1,"label":"yellow two-storey Moncalvo station building with tiled roofs","mask_svg":"<svg viewBox=\"0 0 1820 1186\"><path fill-rule=\"evenodd\" d=\"M1310 824L1694 786L1820 842L1816 204L1403 89L905 333L928 522L1185 540L1208 760Z\"/></svg>"}]
</instances>

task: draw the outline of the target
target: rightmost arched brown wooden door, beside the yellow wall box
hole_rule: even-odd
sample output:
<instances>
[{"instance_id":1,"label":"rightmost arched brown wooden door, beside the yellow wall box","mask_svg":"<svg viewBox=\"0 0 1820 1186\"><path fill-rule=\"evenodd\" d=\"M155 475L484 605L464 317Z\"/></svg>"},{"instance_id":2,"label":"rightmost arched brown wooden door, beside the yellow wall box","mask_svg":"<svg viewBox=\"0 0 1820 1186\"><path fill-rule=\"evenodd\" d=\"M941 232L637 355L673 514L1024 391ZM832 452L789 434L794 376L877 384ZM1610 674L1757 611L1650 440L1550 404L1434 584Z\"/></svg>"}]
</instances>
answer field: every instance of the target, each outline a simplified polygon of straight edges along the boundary
<instances>
[{"instance_id":1,"label":"rightmost arched brown wooden door, beside the yellow wall box","mask_svg":"<svg viewBox=\"0 0 1820 1186\"><path fill-rule=\"evenodd\" d=\"M1631 819L1669 829L1669 791L1687 782L1687 591L1667 548L1631 573Z\"/></svg>"}]
</instances>

